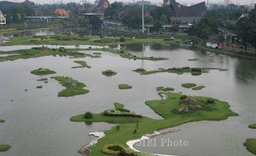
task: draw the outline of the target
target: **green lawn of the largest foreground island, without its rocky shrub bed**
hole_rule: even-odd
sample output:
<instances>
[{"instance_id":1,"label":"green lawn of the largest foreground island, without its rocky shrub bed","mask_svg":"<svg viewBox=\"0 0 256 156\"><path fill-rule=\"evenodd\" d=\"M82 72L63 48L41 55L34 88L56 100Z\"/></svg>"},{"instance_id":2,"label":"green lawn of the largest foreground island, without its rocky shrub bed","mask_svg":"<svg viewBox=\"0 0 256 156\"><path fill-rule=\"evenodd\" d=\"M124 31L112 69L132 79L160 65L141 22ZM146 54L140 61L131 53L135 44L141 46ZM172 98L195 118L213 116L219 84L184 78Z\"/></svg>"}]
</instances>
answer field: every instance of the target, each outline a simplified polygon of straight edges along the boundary
<instances>
[{"instance_id":1,"label":"green lawn of the largest foreground island, without its rocky shrub bed","mask_svg":"<svg viewBox=\"0 0 256 156\"><path fill-rule=\"evenodd\" d=\"M112 128L105 132L106 136L102 138L97 145L92 146L92 156L102 155L102 148L105 145L124 145L128 140L135 140L141 137L141 135L151 134L154 131L159 131L172 126L178 126L187 122L198 122L202 120L224 120L227 117L237 115L235 112L230 111L230 105L226 102L216 100L216 104L211 104L210 110L200 110L193 113L187 114L176 114L172 110L179 108L179 100L182 94L176 94L169 92L167 93L167 99L165 100L152 100L147 101L146 105L152 108L154 112L158 113L162 120L154 120L148 117L107 117L102 114L93 114L92 119L85 119L83 114L71 117L70 120L73 122L108 122L108 123L119 123L121 129L116 131L116 128ZM206 103L208 98L206 97L195 97L199 101ZM131 124L133 123L133 124ZM135 123L140 124L140 131L135 131ZM122 136L122 137L120 137ZM127 151L128 149L126 149ZM133 151L134 152L134 151ZM137 155L137 153L136 153ZM139 154L138 154L139 155ZM143 154L142 154L143 155Z\"/></svg>"}]
</instances>

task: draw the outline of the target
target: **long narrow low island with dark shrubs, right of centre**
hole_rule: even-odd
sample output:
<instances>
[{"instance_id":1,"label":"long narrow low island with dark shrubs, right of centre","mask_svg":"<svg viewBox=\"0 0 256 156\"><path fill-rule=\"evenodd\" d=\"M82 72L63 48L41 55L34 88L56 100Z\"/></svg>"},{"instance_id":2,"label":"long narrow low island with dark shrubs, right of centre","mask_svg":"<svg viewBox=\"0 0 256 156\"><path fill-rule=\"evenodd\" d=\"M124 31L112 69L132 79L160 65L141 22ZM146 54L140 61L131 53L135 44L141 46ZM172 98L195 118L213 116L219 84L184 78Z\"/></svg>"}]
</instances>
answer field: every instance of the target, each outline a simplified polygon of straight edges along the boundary
<instances>
[{"instance_id":1,"label":"long narrow low island with dark shrubs, right of centre","mask_svg":"<svg viewBox=\"0 0 256 156\"><path fill-rule=\"evenodd\" d=\"M200 76L201 73L207 73L210 70L220 70L220 68L211 68L211 67L173 67L173 68L159 68L158 70L154 71L146 71L144 68L138 68L133 71L140 73L140 75L150 75L156 74L160 72L169 72L175 73L178 75L182 75L184 73L191 73L192 76Z\"/></svg>"}]
</instances>

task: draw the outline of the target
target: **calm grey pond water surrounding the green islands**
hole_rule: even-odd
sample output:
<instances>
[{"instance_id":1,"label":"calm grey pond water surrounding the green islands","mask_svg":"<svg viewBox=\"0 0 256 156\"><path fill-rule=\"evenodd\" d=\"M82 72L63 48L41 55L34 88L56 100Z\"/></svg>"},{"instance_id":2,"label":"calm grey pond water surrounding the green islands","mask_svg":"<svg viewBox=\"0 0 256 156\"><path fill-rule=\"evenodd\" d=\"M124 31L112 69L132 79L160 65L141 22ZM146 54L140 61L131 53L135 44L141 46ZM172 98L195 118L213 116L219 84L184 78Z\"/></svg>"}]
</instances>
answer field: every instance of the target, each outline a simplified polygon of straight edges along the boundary
<instances>
[{"instance_id":1,"label":"calm grey pond water surrounding the green islands","mask_svg":"<svg viewBox=\"0 0 256 156\"><path fill-rule=\"evenodd\" d=\"M137 47L137 48L135 48ZM105 131L107 123L69 122L69 117L91 111L102 112L112 108L114 102L126 104L126 108L152 118L161 118L145 105L146 100L159 99L155 88L172 86L185 94L206 95L228 101L239 117L221 122L192 122L178 126L181 131L157 137L170 140L187 140L186 148L139 147L146 152L180 155L252 155L243 146L246 138L256 138L256 132L247 128L256 120L256 61L218 55L214 58L183 48L160 45L126 45L131 53L144 56L168 57L166 61L150 62L128 60L115 54L102 53L102 58L40 57L0 62L0 144L12 145L3 156L70 156L88 144L90 131ZM88 52L92 53L92 52ZM187 59L199 58L189 62ZM76 68L74 60L84 60L92 68ZM48 84L36 81L50 76L34 76L30 71L38 67L57 71L58 76L71 76L84 82L89 94L71 98L58 98L63 89L56 80ZM132 70L144 67L220 67L228 71L210 71L201 76L159 73L140 76ZM103 70L117 71L116 76L102 76ZM206 85L206 89L184 89L182 83L194 82ZM118 84L133 86L129 90L118 89ZM43 85L43 89L36 89ZM28 89L28 91L24 91ZM13 100L13 102L11 101ZM175 127L176 128L176 127Z\"/></svg>"}]
</instances>

